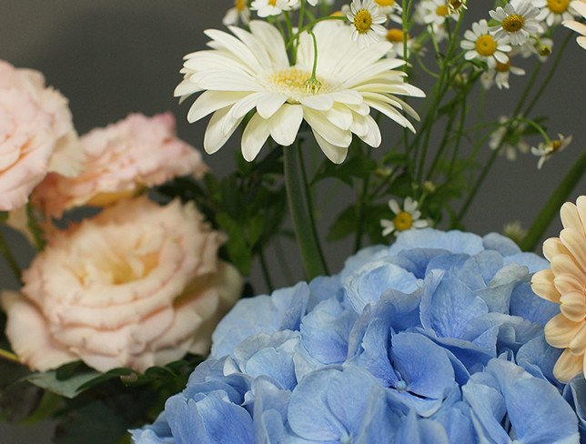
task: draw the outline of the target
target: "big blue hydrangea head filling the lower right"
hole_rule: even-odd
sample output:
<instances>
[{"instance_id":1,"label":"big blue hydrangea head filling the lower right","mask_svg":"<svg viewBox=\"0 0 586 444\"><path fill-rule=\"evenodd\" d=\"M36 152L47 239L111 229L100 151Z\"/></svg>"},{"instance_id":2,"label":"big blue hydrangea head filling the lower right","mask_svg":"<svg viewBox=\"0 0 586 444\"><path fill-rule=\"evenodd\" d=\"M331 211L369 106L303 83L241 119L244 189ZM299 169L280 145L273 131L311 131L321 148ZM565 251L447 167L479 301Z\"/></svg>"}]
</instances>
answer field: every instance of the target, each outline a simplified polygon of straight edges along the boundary
<instances>
[{"instance_id":1,"label":"big blue hydrangea head filling the lower right","mask_svg":"<svg viewBox=\"0 0 586 444\"><path fill-rule=\"evenodd\" d=\"M548 267L505 237L420 229L338 275L240 301L146 443L586 442L586 381L552 374Z\"/></svg>"}]
</instances>

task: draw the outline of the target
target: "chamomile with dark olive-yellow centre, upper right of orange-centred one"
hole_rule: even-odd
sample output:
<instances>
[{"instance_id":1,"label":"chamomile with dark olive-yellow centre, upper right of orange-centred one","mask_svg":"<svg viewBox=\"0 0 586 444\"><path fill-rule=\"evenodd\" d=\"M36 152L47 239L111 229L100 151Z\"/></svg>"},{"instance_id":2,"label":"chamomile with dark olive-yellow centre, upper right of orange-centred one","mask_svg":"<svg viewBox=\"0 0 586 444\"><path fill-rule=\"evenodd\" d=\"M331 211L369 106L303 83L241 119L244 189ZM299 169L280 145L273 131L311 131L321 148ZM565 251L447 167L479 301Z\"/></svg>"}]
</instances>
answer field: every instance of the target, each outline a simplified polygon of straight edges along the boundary
<instances>
[{"instance_id":1,"label":"chamomile with dark olive-yellow centre, upper right of orange-centred one","mask_svg":"<svg viewBox=\"0 0 586 444\"><path fill-rule=\"evenodd\" d=\"M491 26L495 38L509 37L511 45L522 45L531 34L543 32L537 21L539 9L533 7L528 0L511 0L504 9L489 11L489 15L500 25Z\"/></svg>"}]
</instances>

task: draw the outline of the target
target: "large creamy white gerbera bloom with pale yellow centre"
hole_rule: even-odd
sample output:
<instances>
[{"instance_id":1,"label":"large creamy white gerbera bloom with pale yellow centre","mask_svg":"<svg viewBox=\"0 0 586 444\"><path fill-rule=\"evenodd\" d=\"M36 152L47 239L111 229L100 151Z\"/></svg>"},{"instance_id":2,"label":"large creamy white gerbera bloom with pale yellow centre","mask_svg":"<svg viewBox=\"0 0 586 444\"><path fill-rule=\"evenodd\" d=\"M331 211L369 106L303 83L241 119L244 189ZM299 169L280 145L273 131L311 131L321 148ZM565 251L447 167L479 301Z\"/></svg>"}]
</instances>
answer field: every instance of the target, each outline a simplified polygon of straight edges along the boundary
<instances>
[{"instance_id":1,"label":"large creamy white gerbera bloom with pale yellow centre","mask_svg":"<svg viewBox=\"0 0 586 444\"><path fill-rule=\"evenodd\" d=\"M195 122L214 113L207 126L204 148L216 152L249 112L252 116L242 135L242 154L253 160L268 136L281 146L295 141L305 120L328 158L340 163L346 157L352 135L369 146L379 146L380 129L369 116L379 110L401 126L414 131L398 109L417 113L395 95L425 96L405 83L405 64L383 58L389 42L360 49L350 38L349 26L338 21L321 22L313 28L318 42L317 83L309 84L314 62L313 40L299 36L297 63L289 66L285 42L278 29L251 21L250 32L229 28L234 35L207 30L212 50L186 56L184 80L175 96L203 91L187 114Z\"/></svg>"}]
</instances>

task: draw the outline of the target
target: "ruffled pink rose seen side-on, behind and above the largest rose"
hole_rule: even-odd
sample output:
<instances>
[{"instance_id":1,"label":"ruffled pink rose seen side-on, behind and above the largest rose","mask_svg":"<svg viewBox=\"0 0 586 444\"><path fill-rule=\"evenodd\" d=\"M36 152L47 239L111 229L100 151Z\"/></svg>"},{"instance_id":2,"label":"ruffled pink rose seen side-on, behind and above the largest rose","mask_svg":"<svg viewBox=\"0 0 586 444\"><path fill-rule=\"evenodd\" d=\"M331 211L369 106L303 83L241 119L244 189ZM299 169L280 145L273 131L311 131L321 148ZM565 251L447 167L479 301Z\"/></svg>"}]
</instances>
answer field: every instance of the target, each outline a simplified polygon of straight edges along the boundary
<instances>
[{"instance_id":1,"label":"ruffled pink rose seen side-on, behind and above the largest rose","mask_svg":"<svg viewBox=\"0 0 586 444\"><path fill-rule=\"evenodd\" d=\"M47 216L61 217L72 207L104 207L132 197L143 187L193 174L203 177L201 154L175 134L170 113L147 117L132 114L81 137L86 162L77 177L48 175L33 201Z\"/></svg>"}]
</instances>

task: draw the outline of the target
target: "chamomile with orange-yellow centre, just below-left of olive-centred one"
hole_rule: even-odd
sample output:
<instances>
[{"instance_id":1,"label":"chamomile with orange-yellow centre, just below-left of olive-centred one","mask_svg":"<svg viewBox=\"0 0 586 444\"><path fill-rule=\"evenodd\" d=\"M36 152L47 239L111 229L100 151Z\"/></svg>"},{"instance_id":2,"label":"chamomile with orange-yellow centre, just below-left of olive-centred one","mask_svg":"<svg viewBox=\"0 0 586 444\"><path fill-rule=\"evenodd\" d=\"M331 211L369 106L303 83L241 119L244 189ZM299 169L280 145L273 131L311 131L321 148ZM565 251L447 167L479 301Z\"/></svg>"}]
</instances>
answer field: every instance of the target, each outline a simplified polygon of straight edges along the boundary
<instances>
[{"instance_id":1,"label":"chamomile with orange-yellow centre, just below-left of olive-centred one","mask_svg":"<svg viewBox=\"0 0 586 444\"><path fill-rule=\"evenodd\" d=\"M491 69L497 66L497 62L507 63L509 61L509 57L505 53L510 52L510 45L505 45L502 39L490 35L489 25L484 19L473 23L471 31L470 29L466 30L460 46L466 49L464 55L466 60L473 58L482 60Z\"/></svg>"}]
</instances>

